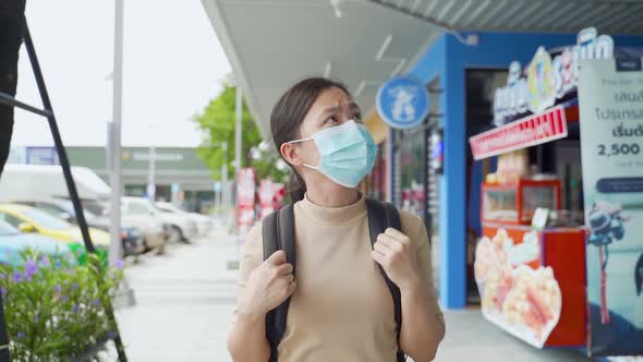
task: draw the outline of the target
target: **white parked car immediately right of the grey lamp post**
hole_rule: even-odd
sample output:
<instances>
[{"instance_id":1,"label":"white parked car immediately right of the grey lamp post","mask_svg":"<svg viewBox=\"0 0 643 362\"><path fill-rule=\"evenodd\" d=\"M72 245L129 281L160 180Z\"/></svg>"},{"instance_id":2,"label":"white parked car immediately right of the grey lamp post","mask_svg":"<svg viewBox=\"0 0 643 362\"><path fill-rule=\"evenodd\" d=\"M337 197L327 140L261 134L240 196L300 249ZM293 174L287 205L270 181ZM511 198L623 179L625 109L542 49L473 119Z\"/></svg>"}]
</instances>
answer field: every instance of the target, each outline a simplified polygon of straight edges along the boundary
<instances>
[{"instance_id":1,"label":"white parked car immediately right of the grey lamp post","mask_svg":"<svg viewBox=\"0 0 643 362\"><path fill-rule=\"evenodd\" d=\"M123 215L147 215L169 224L170 242L190 242L190 240L197 234L196 222L183 215L162 213L147 198L123 197L121 205Z\"/></svg>"}]
</instances>

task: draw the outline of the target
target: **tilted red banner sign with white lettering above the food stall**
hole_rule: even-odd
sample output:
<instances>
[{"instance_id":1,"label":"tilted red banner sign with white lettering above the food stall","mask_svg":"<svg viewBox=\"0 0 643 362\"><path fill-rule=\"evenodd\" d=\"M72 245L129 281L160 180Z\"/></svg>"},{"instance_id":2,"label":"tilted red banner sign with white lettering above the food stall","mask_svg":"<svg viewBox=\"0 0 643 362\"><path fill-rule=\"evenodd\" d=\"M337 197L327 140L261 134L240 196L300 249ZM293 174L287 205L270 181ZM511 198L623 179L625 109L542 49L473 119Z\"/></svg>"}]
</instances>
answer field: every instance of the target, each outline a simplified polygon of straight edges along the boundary
<instances>
[{"instance_id":1,"label":"tilted red banner sign with white lettering above the food stall","mask_svg":"<svg viewBox=\"0 0 643 362\"><path fill-rule=\"evenodd\" d=\"M473 158L483 159L567 137L562 107L530 116L469 138Z\"/></svg>"}]
</instances>

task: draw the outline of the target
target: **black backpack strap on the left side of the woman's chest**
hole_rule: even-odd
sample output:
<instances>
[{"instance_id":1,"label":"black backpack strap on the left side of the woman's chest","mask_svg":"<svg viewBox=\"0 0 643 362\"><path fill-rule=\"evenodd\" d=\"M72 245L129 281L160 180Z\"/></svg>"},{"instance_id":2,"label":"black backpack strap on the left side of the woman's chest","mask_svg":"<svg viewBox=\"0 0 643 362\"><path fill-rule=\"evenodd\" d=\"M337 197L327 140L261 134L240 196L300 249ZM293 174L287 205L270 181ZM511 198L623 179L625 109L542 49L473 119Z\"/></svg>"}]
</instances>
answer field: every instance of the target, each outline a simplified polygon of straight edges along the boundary
<instances>
[{"instance_id":1,"label":"black backpack strap on the left side of the woman's chest","mask_svg":"<svg viewBox=\"0 0 643 362\"><path fill-rule=\"evenodd\" d=\"M291 204L266 216L262 227L264 261L278 250L283 250L286 260L295 269L294 212ZM286 331L286 318L290 298L266 315L266 338L270 345L270 362L277 362L277 347Z\"/></svg>"}]
</instances>

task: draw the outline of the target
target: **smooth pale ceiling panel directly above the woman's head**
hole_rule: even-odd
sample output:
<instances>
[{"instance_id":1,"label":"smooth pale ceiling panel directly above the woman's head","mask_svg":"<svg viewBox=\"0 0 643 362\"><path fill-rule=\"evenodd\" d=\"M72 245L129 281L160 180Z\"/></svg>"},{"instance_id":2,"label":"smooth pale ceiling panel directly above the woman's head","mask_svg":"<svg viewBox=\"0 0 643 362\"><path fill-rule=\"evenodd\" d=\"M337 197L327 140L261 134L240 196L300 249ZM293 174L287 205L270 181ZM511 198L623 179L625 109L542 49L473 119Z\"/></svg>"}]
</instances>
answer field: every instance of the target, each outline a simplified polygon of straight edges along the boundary
<instances>
[{"instance_id":1,"label":"smooth pale ceiling panel directly above the woman's head","mask_svg":"<svg viewBox=\"0 0 643 362\"><path fill-rule=\"evenodd\" d=\"M296 81L312 75L341 80L366 112L381 82L412 64L440 33L360 0L341 1L341 17L328 0L203 3L264 138L274 104Z\"/></svg>"}]
</instances>

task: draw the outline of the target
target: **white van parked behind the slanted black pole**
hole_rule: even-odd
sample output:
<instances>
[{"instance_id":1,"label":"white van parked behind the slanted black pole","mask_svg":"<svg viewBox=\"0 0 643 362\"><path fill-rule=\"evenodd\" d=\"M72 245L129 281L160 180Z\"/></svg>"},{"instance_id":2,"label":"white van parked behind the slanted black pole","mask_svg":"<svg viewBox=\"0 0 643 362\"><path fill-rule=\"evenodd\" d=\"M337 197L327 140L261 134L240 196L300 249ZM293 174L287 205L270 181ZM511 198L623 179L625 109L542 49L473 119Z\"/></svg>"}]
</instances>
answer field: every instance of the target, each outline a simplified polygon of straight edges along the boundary
<instances>
[{"instance_id":1,"label":"white van parked behind the slanted black pole","mask_svg":"<svg viewBox=\"0 0 643 362\"><path fill-rule=\"evenodd\" d=\"M108 201L110 188L86 167L72 167L81 200ZM5 165L0 178L0 202L12 200L69 198L62 168L45 165Z\"/></svg>"}]
</instances>

